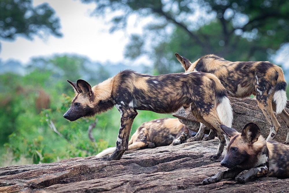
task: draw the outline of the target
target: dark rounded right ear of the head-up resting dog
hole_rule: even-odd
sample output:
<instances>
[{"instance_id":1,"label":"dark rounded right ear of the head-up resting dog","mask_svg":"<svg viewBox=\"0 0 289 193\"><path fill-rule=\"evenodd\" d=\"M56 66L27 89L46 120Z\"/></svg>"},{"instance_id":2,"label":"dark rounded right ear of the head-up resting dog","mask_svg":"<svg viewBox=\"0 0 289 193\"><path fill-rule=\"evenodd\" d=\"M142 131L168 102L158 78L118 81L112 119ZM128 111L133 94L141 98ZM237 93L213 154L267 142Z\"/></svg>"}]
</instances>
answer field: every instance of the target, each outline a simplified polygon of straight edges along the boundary
<instances>
[{"instance_id":1,"label":"dark rounded right ear of the head-up resting dog","mask_svg":"<svg viewBox=\"0 0 289 193\"><path fill-rule=\"evenodd\" d=\"M249 142L255 143L259 136L261 135L261 130L255 123L247 123L242 130L243 137L247 138Z\"/></svg>"}]
</instances>

